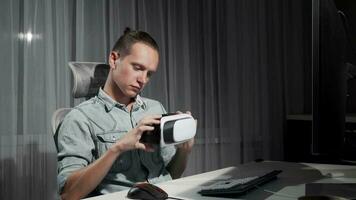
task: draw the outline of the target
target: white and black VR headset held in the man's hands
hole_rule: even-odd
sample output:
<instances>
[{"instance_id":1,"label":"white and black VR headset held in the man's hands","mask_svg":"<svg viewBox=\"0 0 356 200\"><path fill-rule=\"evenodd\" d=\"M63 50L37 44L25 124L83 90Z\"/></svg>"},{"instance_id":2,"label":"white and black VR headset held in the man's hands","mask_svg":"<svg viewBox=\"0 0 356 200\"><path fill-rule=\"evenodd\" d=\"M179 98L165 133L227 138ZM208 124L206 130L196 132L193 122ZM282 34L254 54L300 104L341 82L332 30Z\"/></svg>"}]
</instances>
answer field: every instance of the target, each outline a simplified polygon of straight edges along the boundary
<instances>
[{"instance_id":1,"label":"white and black VR headset held in the man's hands","mask_svg":"<svg viewBox=\"0 0 356 200\"><path fill-rule=\"evenodd\" d=\"M142 134L142 143L160 144L161 146L183 143L195 136L197 123L188 114L163 114L161 123L151 132Z\"/></svg>"}]
</instances>

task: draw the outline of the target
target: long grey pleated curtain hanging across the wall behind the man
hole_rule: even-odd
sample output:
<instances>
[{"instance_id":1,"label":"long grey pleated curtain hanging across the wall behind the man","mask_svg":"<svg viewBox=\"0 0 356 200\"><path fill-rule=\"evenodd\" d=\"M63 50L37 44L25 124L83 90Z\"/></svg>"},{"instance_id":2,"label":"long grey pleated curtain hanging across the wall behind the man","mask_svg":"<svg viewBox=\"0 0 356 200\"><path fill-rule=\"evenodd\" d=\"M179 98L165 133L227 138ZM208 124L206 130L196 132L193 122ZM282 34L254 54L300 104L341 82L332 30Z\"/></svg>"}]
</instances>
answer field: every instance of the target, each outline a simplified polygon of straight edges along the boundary
<instances>
[{"instance_id":1,"label":"long grey pleated curtain hanging across the wall behind the man","mask_svg":"<svg viewBox=\"0 0 356 200\"><path fill-rule=\"evenodd\" d=\"M13 187L3 183L28 172L52 184L42 196L30 189L25 195L52 197L51 116L83 101L71 96L67 63L107 62L127 26L149 32L160 46L158 72L142 95L169 112L190 110L198 120L184 175L282 160L286 112L305 109L308 99L308 2L1 0L0 196L10 187L5 197L23 197L13 189L23 176Z\"/></svg>"}]
</instances>

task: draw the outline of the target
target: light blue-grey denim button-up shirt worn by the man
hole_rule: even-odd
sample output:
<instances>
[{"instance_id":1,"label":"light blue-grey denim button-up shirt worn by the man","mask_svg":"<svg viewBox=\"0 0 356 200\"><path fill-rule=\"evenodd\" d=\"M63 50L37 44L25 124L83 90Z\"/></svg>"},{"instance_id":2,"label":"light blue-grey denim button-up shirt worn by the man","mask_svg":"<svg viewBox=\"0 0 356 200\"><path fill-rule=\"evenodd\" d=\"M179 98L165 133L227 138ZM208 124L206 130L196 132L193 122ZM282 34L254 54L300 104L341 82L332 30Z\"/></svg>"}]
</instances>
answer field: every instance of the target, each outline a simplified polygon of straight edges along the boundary
<instances>
[{"instance_id":1,"label":"light blue-grey denim button-up shirt worn by the man","mask_svg":"<svg viewBox=\"0 0 356 200\"><path fill-rule=\"evenodd\" d=\"M102 89L96 97L75 107L64 118L58 131L59 190L62 191L73 171L102 156L144 116L163 113L165 109L161 103L139 95L130 112ZM175 147L156 146L155 149L154 152L135 149L120 154L96 191L105 194L127 189L110 183L110 180L123 183L172 180L166 166L176 152Z\"/></svg>"}]
</instances>

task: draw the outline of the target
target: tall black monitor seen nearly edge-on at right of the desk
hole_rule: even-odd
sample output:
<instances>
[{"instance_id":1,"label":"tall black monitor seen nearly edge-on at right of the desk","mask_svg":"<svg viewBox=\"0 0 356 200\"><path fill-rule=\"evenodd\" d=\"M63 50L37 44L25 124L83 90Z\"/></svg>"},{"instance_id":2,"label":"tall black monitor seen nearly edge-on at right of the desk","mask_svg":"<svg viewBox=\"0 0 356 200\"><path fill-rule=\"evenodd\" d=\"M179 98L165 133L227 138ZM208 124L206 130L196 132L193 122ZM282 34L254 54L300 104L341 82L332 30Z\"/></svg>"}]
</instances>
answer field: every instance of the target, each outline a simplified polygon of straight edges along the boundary
<instances>
[{"instance_id":1,"label":"tall black monitor seen nearly edge-on at right of the desk","mask_svg":"<svg viewBox=\"0 0 356 200\"><path fill-rule=\"evenodd\" d=\"M319 16L319 34L313 35L319 63L313 66L313 147L316 153L338 157L345 126L346 36L334 1L321 0L319 13L314 11Z\"/></svg>"}]
</instances>

